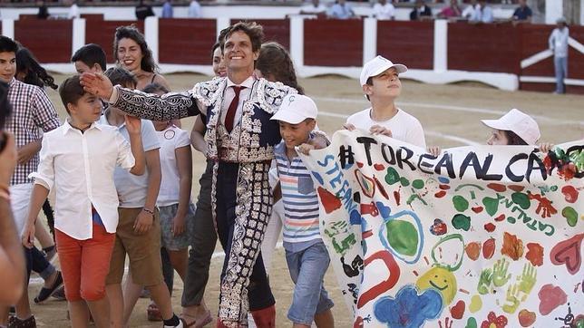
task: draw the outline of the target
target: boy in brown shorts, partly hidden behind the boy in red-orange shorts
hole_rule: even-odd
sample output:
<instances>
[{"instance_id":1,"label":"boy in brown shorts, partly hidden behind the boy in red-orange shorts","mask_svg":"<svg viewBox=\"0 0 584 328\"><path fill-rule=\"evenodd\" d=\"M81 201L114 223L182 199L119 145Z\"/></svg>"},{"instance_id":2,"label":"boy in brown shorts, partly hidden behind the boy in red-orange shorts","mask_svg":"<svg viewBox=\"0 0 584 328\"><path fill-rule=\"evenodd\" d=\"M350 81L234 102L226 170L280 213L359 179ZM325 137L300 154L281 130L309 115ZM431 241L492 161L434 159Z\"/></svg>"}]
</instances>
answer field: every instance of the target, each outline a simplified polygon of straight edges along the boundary
<instances>
[{"instance_id":1,"label":"boy in brown shorts, partly hidden behind the boy in red-orange shorts","mask_svg":"<svg viewBox=\"0 0 584 328\"><path fill-rule=\"evenodd\" d=\"M136 78L120 67L111 68L104 74L113 84L131 89L136 87ZM103 112L100 121L102 124L117 127L125 137L127 127L123 124L123 115L118 108L109 107ZM142 120L141 126L146 173L142 177L132 177L117 169L113 176L120 198L120 222L116 231L110 273L106 279L112 322L115 326L127 325L141 293L141 286L145 286L151 292L154 303L160 308L164 326L181 327L179 317L172 312L169 290L162 278L161 225L156 208L161 187L161 145L151 121ZM130 259L131 275L122 295L126 254Z\"/></svg>"}]
</instances>

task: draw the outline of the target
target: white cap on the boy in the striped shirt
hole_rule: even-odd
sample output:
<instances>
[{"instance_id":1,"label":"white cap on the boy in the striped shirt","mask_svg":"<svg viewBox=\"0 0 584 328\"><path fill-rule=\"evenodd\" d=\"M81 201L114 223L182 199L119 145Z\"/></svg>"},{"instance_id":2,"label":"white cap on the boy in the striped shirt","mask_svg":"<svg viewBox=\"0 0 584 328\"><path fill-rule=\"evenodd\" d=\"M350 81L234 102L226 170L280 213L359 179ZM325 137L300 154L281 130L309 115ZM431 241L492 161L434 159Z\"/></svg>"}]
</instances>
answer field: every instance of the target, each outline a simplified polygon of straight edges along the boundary
<instances>
[{"instance_id":1,"label":"white cap on the boy in the striped shirt","mask_svg":"<svg viewBox=\"0 0 584 328\"><path fill-rule=\"evenodd\" d=\"M302 94L288 94L270 120L298 124L306 119L316 119L316 115L315 101Z\"/></svg>"}]
</instances>

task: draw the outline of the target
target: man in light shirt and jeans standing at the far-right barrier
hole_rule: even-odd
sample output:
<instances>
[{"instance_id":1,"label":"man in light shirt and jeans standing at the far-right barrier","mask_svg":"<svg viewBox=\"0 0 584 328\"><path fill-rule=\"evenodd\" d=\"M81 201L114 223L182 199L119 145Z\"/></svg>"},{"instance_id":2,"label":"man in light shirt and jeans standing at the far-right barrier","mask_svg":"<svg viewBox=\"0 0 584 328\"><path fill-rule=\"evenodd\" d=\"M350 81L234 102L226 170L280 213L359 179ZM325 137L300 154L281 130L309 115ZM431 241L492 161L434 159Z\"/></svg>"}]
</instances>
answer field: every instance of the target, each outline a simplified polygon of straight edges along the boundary
<instances>
[{"instance_id":1,"label":"man in light shirt and jeans standing at the far-right barrier","mask_svg":"<svg viewBox=\"0 0 584 328\"><path fill-rule=\"evenodd\" d=\"M554 93L565 93L564 79L568 76L569 29L564 17L558 18L556 24L558 27L553 29L548 40L550 50L553 52L553 63L556 69L556 91Z\"/></svg>"}]
</instances>

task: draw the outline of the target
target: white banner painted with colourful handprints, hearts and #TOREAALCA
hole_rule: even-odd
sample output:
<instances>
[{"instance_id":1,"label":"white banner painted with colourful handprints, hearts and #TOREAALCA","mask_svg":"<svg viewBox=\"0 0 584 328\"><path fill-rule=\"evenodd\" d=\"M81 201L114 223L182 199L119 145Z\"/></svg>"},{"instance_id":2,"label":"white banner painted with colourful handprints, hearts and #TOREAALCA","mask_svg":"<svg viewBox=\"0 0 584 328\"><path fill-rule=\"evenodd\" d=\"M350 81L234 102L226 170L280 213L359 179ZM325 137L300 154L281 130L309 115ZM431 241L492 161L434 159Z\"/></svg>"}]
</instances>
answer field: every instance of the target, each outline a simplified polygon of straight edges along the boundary
<instances>
[{"instance_id":1,"label":"white banner painted with colourful handprints, hearts and #TOREAALCA","mask_svg":"<svg viewBox=\"0 0 584 328\"><path fill-rule=\"evenodd\" d=\"M584 140L434 158L342 130L303 160L355 327L584 327Z\"/></svg>"}]
</instances>

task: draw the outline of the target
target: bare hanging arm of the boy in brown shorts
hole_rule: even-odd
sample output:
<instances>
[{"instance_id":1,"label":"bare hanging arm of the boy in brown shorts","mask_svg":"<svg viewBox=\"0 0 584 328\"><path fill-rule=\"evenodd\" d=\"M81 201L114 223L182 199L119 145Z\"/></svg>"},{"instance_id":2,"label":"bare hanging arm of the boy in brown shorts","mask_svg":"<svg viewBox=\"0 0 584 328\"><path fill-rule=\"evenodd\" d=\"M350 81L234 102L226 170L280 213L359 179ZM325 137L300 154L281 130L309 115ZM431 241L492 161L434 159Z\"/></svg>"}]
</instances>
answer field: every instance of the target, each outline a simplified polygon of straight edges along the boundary
<instances>
[{"instance_id":1,"label":"bare hanging arm of the boy in brown shorts","mask_svg":"<svg viewBox=\"0 0 584 328\"><path fill-rule=\"evenodd\" d=\"M134 231L143 234L150 230L154 223L154 207L156 198L161 189L161 156L159 149L148 150L145 153L146 169L148 169L148 189L146 190L146 202L136 221L134 221Z\"/></svg>"}]
</instances>

